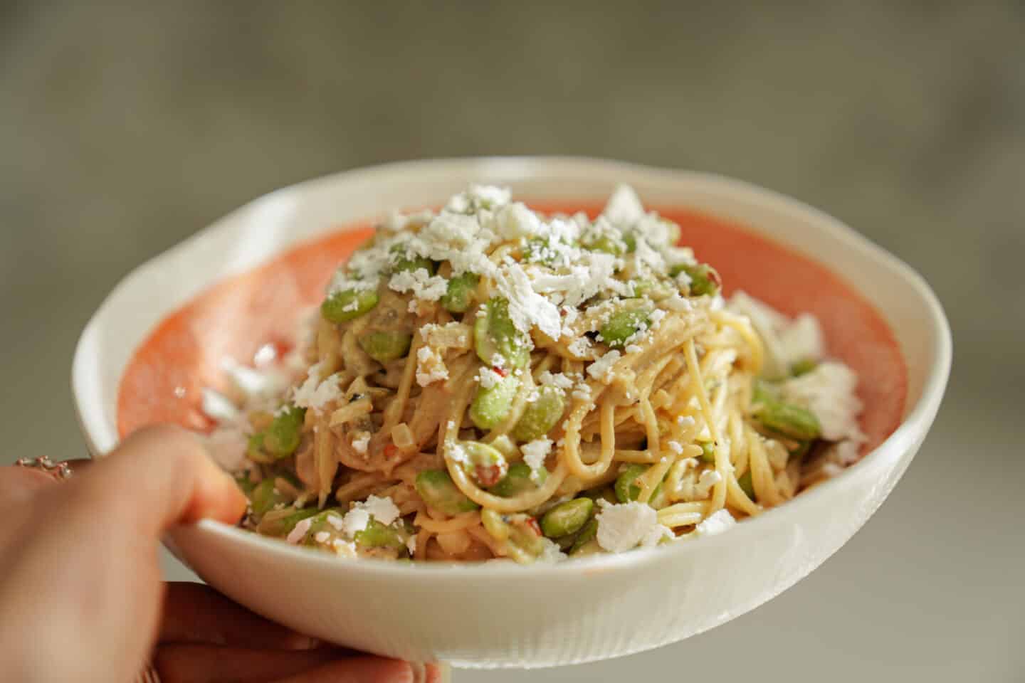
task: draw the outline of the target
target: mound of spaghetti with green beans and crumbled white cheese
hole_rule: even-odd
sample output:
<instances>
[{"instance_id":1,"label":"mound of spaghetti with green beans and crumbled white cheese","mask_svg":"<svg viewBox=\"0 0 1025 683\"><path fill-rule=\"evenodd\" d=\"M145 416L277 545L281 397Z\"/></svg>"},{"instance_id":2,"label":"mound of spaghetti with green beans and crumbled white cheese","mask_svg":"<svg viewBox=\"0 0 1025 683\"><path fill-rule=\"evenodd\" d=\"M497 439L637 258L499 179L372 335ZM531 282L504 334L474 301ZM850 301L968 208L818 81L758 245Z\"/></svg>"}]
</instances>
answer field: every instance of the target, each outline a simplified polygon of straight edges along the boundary
<instances>
[{"instance_id":1,"label":"mound of spaghetti with green beans and crumbled white cheese","mask_svg":"<svg viewBox=\"0 0 1025 683\"><path fill-rule=\"evenodd\" d=\"M304 343L206 390L258 533L348 557L559 561L686 541L856 462L857 378L620 186L395 213Z\"/></svg>"}]
</instances>

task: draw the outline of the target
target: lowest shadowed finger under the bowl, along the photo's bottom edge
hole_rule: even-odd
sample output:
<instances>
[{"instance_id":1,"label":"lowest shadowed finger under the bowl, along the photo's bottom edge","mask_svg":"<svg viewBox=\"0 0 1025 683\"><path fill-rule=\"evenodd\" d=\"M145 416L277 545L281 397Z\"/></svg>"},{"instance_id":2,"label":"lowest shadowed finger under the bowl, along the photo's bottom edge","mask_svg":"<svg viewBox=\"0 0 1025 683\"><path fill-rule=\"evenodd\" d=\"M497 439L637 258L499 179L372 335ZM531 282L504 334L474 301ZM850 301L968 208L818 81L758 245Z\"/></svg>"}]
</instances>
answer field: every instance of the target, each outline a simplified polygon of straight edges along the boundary
<instances>
[{"instance_id":1,"label":"lowest shadowed finger under the bowl, along the photo's bottom edge","mask_svg":"<svg viewBox=\"0 0 1025 683\"><path fill-rule=\"evenodd\" d=\"M248 683L287 678L344 656L344 650L326 647L287 651L170 643L157 647L153 668L162 683Z\"/></svg>"}]
</instances>

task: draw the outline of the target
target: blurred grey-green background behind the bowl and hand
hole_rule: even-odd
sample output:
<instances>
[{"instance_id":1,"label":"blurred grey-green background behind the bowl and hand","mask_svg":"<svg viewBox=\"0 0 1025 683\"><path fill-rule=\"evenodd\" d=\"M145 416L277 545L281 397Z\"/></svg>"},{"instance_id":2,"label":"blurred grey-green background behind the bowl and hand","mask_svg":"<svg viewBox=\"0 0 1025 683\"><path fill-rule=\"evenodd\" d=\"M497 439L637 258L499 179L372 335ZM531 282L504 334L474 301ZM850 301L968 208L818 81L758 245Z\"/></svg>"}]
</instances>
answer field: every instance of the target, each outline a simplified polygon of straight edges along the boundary
<instances>
[{"instance_id":1,"label":"blurred grey-green background behind the bowl and hand","mask_svg":"<svg viewBox=\"0 0 1025 683\"><path fill-rule=\"evenodd\" d=\"M0 3L2 462L82 454L68 377L92 310L271 189L463 155L713 171L921 272L954 329L946 401L810 578L531 680L1025 680L1025 3L127 4Z\"/></svg>"}]
</instances>

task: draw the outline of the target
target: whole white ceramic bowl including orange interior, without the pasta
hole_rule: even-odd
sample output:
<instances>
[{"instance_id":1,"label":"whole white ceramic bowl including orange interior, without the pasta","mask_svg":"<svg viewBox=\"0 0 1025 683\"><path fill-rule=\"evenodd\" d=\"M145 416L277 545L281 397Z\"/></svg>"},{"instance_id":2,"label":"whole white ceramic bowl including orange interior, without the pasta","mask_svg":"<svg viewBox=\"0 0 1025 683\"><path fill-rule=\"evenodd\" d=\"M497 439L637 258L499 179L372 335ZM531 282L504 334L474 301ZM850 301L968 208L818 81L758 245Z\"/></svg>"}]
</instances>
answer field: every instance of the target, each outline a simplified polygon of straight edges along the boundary
<instances>
[{"instance_id":1,"label":"whole white ceramic bowl including orange interior, without the pasta","mask_svg":"<svg viewBox=\"0 0 1025 683\"><path fill-rule=\"evenodd\" d=\"M819 315L830 351L861 378L865 457L727 533L557 565L342 560L209 520L171 530L168 547L217 590L293 629L409 660L592 661L688 638L771 599L843 546L900 479L951 357L943 310L919 275L836 219L741 181L544 157L417 161L303 182L136 268L76 349L90 452L147 422L209 426L199 389L220 382L220 357L281 340L374 218L437 206L470 182L507 185L541 208L590 210L626 182L646 205L684 216L685 242L728 287Z\"/></svg>"}]
</instances>

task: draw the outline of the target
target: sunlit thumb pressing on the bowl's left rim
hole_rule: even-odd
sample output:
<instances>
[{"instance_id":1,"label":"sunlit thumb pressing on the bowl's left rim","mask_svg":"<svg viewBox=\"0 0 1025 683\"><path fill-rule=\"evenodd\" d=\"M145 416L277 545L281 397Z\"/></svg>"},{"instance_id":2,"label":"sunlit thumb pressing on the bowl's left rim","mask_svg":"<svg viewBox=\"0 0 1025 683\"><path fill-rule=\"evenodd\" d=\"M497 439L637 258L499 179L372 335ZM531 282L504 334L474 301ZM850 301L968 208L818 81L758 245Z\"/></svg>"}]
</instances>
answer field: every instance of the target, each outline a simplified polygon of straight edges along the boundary
<instances>
[{"instance_id":1,"label":"sunlit thumb pressing on the bowl's left rim","mask_svg":"<svg viewBox=\"0 0 1025 683\"><path fill-rule=\"evenodd\" d=\"M68 494L82 497L93 519L130 520L147 537L167 527L211 518L235 523L246 499L235 480L207 456L200 438L172 425L147 427L73 477ZM127 509L126 509L127 508Z\"/></svg>"}]
</instances>

